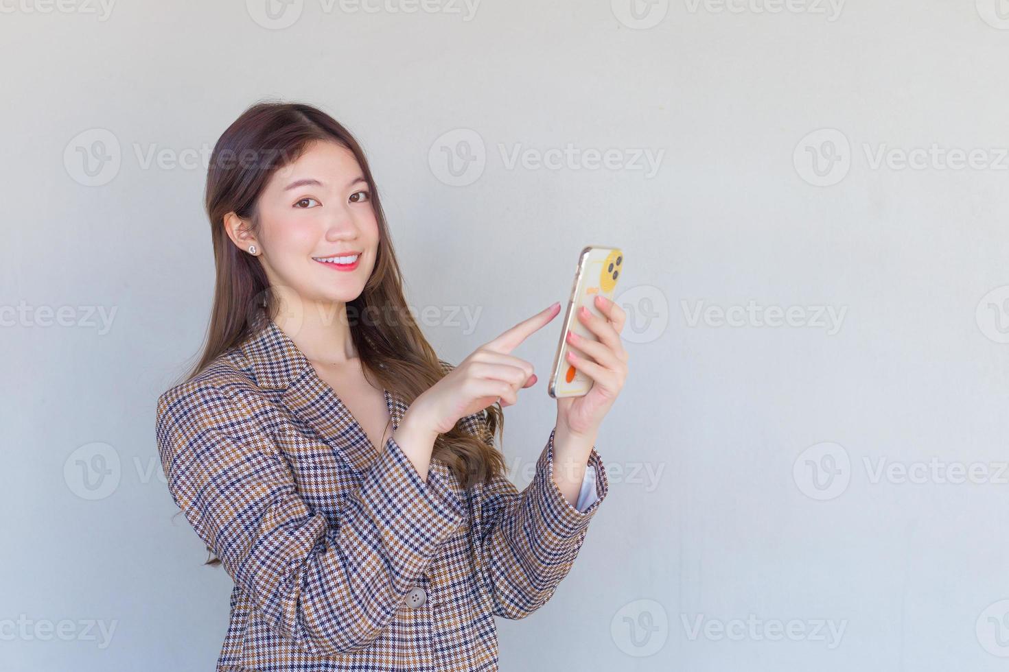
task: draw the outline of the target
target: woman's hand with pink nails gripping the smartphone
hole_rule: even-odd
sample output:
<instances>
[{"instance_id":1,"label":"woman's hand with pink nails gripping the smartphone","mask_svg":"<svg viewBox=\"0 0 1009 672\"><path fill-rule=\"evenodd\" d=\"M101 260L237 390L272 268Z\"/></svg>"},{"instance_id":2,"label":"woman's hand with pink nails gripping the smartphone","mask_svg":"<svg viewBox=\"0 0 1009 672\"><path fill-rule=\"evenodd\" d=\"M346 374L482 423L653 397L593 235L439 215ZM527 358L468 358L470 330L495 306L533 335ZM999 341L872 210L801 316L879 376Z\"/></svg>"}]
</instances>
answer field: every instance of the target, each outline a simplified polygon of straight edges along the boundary
<instances>
[{"instance_id":1,"label":"woman's hand with pink nails gripping the smartphone","mask_svg":"<svg viewBox=\"0 0 1009 672\"><path fill-rule=\"evenodd\" d=\"M592 440L628 376L628 353L621 341L627 313L601 294L596 294L593 300L603 316L598 317L582 307L575 318L598 341L584 339L574 331L570 331L567 339L567 363L591 378L592 388L581 397L557 400L557 426Z\"/></svg>"}]
</instances>

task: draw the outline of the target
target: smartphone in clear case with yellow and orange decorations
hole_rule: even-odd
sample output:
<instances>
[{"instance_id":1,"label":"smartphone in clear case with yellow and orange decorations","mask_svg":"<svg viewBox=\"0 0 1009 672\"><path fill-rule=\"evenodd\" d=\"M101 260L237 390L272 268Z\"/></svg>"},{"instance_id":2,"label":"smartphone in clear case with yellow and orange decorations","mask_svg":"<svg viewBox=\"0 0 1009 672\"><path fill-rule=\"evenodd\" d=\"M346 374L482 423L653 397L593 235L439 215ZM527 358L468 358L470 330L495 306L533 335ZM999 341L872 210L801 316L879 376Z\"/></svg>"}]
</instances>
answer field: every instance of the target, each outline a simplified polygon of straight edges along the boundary
<instances>
[{"instance_id":1,"label":"smartphone in clear case with yellow and orange decorations","mask_svg":"<svg viewBox=\"0 0 1009 672\"><path fill-rule=\"evenodd\" d=\"M550 385L547 387L551 397L581 397L592 389L592 379L567 361L567 334L568 331L574 331L585 339L598 341L578 319L577 310L584 305L589 312L602 317L602 312L595 306L593 299L596 294L602 294L612 300L623 269L624 252L620 248L589 245L578 256L578 268L574 273L571 298L564 315L561 341L557 344Z\"/></svg>"}]
</instances>

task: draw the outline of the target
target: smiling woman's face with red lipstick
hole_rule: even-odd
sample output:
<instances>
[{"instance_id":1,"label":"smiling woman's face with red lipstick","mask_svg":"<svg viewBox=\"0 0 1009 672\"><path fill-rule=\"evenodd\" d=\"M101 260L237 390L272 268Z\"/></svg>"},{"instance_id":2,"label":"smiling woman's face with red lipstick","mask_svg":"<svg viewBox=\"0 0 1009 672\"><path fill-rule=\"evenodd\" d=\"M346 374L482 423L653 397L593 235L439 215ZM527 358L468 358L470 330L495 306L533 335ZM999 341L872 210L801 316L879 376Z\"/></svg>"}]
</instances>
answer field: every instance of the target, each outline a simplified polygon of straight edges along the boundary
<instances>
[{"instance_id":1,"label":"smiling woman's face with red lipstick","mask_svg":"<svg viewBox=\"0 0 1009 672\"><path fill-rule=\"evenodd\" d=\"M335 142L312 143L272 174L258 211L256 243L271 285L295 290L306 303L346 303L360 295L374 268L378 223L353 152Z\"/></svg>"}]
</instances>

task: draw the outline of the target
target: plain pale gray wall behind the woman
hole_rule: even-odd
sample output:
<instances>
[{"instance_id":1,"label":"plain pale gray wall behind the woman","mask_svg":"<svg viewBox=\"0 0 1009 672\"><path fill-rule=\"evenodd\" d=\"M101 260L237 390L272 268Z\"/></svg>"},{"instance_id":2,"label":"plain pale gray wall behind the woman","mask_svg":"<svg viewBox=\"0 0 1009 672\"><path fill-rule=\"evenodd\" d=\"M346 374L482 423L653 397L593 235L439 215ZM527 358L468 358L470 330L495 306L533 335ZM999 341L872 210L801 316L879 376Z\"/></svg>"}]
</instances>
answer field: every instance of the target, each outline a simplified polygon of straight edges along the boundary
<instances>
[{"instance_id":1,"label":"plain pale gray wall behind the woman","mask_svg":"<svg viewBox=\"0 0 1009 672\"><path fill-rule=\"evenodd\" d=\"M626 252L611 491L502 670L1005 669L1009 3L266 8L0 3L0 667L216 660L153 409L207 323L206 156L277 97L362 140L444 359ZM517 353L520 488L558 329Z\"/></svg>"}]
</instances>

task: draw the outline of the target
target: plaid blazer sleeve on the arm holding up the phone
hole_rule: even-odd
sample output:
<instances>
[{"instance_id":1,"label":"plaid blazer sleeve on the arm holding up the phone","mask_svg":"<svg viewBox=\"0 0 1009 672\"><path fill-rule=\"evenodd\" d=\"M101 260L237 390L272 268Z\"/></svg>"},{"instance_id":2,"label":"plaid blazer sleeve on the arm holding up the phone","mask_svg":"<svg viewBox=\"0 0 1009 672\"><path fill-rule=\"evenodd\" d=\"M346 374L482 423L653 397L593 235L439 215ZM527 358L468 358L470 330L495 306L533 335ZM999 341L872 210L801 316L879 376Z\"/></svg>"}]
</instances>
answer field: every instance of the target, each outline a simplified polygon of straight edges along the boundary
<instances>
[{"instance_id":1,"label":"plaid blazer sleeve on the arm holding up the phone","mask_svg":"<svg viewBox=\"0 0 1009 672\"><path fill-rule=\"evenodd\" d=\"M483 412L465 419L493 444ZM586 472L593 472L595 498L584 510L573 507L553 479L554 433L536 462L532 482L521 493L504 477L482 486L476 568L495 616L523 619L557 589L581 549L589 521L609 491L595 447ZM581 498L579 498L581 499Z\"/></svg>"}]
</instances>

